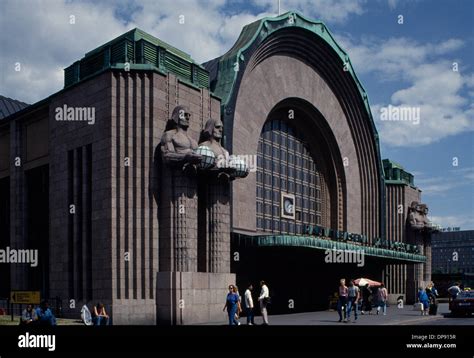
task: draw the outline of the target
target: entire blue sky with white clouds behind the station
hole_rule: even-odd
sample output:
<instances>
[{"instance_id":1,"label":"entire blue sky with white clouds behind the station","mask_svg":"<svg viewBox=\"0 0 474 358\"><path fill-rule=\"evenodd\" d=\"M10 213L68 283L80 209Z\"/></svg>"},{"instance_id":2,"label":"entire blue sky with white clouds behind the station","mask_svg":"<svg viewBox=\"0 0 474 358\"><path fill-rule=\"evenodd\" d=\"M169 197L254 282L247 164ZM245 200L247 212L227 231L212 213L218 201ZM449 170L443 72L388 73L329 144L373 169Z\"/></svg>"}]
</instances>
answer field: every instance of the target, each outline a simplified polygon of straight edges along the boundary
<instances>
[{"instance_id":1,"label":"entire blue sky with white clouds behind the station","mask_svg":"<svg viewBox=\"0 0 474 358\"><path fill-rule=\"evenodd\" d=\"M348 52L382 158L415 176L431 220L474 229L474 1L280 4L323 21ZM244 25L277 13L278 0L0 0L0 94L39 101L62 89L64 68L135 27L205 62ZM400 107L413 109L411 120L384 120Z\"/></svg>"}]
</instances>

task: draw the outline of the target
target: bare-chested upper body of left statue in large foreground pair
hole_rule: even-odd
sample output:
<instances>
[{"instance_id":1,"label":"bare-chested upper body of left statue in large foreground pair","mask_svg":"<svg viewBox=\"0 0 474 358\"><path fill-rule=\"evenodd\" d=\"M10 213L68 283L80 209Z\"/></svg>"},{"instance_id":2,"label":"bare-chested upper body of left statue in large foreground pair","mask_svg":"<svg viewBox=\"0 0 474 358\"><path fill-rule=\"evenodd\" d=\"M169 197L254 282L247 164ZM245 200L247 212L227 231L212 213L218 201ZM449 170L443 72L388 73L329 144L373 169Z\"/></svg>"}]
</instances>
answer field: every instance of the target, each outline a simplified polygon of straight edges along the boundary
<instances>
[{"instance_id":1,"label":"bare-chested upper body of left statue in large foreground pair","mask_svg":"<svg viewBox=\"0 0 474 358\"><path fill-rule=\"evenodd\" d=\"M197 154L197 143L188 133L191 113L185 106L176 106L171 120L161 137L163 162L171 165L199 164L201 155Z\"/></svg>"}]
</instances>

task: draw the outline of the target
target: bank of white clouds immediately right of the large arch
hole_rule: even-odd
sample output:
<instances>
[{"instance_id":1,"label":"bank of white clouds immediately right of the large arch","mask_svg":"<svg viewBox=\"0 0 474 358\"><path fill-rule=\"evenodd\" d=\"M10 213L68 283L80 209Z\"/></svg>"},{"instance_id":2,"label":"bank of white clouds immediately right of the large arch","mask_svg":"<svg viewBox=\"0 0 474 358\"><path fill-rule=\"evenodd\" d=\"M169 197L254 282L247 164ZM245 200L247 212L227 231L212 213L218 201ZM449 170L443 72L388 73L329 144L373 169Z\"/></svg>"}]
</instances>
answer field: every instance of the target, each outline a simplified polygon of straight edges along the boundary
<instances>
[{"instance_id":1,"label":"bank of white clouds immediately right of the large arch","mask_svg":"<svg viewBox=\"0 0 474 358\"><path fill-rule=\"evenodd\" d=\"M474 107L463 94L472 86L473 75L453 71L452 61L443 55L461 48L459 39L419 44L408 38L364 38L356 44L342 37L359 73L371 73L380 82L398 82L388 103L372 106L383 143L417 146L474 129ZM420 110L420 121L381 121L380 109L388 105Z\"/></svg>"}]
</instances>

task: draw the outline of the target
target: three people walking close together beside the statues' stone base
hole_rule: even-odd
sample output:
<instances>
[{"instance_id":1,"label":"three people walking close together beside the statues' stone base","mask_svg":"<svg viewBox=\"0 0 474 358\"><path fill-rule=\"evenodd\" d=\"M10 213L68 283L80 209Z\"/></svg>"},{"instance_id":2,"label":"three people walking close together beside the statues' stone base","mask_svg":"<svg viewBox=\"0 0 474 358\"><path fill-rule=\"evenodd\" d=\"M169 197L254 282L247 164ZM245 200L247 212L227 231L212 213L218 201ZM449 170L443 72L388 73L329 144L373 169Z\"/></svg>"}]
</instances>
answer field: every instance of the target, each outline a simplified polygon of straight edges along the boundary
<instances>
[{"instance_id":1,"label":"three people walking close together beside the statues' stone base","mask_svg":"<svg viewBox=\"0 0 474 358\"><path fill-rule=\"evenodd\" d=\"M244 294L245 315L247 316L247 324L254 325L255 307L252 297L253 285L249 284ZM270 291L265 281L260 281L260 295L258 296L260 313L263 319L263 325L268 325L267 306L270 303ZM240 325L239 318L242 313L242 297L236 285L229 285L229 293L227 294L223 311L227 310L229 316L229 325Z\"/></svg>"}]
</instances>

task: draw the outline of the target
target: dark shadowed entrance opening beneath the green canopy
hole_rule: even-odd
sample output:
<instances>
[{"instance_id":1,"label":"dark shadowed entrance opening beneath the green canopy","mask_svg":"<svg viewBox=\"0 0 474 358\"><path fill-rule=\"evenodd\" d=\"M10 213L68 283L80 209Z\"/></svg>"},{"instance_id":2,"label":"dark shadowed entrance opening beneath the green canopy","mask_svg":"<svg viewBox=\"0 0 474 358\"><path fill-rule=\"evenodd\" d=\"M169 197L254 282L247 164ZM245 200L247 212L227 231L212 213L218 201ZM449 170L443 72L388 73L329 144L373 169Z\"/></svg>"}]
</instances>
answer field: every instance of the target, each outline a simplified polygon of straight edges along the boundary
<instances>
[{"instance_id":1,"label":"dark shadowed entrance opening beneath the green canopy","mask_svg":"<svg viewBox=\"0 0 474 358\"><path fill-rule=\"evenodd\" d=\"M269 289L270 314L289 314L327 310L338 290L339 280L369 277L380 280L383 260L365 256L362 267L356 263L326 263L325 250L305 247L232 247L239 261L232 260L241 295L249 283L254 286L254 303L260 293L260 280ZM257 308L258 311L258 308Z\"/></svg>"}]
</instances>

